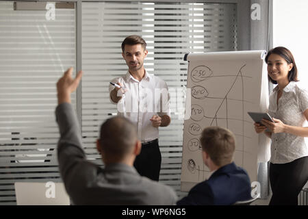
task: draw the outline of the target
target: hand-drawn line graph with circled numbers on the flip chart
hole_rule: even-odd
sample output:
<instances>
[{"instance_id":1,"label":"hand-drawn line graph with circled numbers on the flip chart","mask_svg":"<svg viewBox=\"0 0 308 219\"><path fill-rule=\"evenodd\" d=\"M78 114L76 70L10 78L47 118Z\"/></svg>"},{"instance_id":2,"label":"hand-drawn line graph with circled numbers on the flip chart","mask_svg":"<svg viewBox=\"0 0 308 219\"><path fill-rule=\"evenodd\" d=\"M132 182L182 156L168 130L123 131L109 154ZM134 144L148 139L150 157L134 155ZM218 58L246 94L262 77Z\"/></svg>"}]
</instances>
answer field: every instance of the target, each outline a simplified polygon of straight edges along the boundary
<instances>
[{"instance_id":1,"label":"hand-drawn line graph with circled numbers on the flip chart","mask_svg":"<svg viewBox=\"0 0 308 219\"><path fill-rule=\"evenodd\" d=\"M253 125L251 120L246 120L244 106L251 104L252 101L245 98L244 79L251 80L253 77L245 74L246 64L238 66L238 70L233 73L216 73L209 66L196 66L190 71L190 87L192 95L191 116L188 120L189 138L187 141L188 149L188 171L193 175L201 176L205 179L209 176L209 170L203 164L203 160L193 159L196 154L201 153L201 143L198 140L201 131L208 126L220 126L231 129L236 137L237 164L244 166L244 142L251 136L244 132L245 123ZM213 86L224 80L222 92ZM218 82L216 82L218 81ZM226 82L227 81L227 82ZM217 92L217 91L218 92ZM190 122L191 121L191 122ZM201 177L202 178L202 177Z\"/></svg>"}]
</instances>

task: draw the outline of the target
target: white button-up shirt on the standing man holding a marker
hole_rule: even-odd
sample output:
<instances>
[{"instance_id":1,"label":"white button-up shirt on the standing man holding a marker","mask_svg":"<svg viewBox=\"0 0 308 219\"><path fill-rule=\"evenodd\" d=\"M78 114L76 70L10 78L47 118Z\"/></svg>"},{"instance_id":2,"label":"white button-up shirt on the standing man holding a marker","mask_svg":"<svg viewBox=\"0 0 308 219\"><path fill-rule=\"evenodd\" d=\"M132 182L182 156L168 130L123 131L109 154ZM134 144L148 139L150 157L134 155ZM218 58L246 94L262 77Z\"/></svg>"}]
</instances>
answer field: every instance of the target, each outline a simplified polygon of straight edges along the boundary
<instances>
[{"instance_id":1,"label":"white button-up shirt on the standing man holding a marker","mask_svg":"<svg viewBox=\"0 0 308 219\"><path fill-rule=\"evenodd\" d=\"M124 94L118 92L122 99L117 104L118 116L125 116L138 129L138 139L142 143L158 138L158 128L153 127L151 118L154 115L170 116L170 94L165 81L145 72L141 81L133 78L129 71L121 77L112 80L122 83ZM109 92L114 90L110 84ZM110 98L111 103L114 103ZM114 103L116 104L116 103Z\"/></svg>"}]
</instances>

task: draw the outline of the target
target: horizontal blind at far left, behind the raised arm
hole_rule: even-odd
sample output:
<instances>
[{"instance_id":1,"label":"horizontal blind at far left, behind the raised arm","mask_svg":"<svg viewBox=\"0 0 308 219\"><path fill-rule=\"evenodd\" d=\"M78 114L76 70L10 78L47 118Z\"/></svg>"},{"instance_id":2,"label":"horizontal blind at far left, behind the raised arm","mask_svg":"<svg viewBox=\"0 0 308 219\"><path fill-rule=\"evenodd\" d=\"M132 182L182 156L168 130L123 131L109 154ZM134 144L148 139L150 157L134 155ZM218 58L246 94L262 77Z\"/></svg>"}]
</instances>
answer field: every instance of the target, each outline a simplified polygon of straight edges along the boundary
<instances>
[{"instance_id":1,"label":"horizontal blind at far left, behind the raised arm","mask_svg":"<svg viewBox=\"0 0 308 219\"><path fill-rule=\"evenodd\" d=\"M55 83L75 66L75 10L46 13L0 1L0 205L16 204L15 182L61 181Z\"/></svg>"}]
</instances>

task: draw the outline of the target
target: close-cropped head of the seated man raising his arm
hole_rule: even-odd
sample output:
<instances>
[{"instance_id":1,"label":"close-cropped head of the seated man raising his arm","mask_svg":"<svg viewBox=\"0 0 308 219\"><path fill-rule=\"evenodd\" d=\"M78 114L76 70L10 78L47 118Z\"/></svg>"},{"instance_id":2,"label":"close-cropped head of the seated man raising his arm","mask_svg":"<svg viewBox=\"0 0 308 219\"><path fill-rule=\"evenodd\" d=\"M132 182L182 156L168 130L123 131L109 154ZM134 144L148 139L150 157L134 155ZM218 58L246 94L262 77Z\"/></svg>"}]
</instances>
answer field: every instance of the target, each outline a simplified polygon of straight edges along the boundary
<instances>
[{"instance_id":1,"label":"close-cropped head of the seated man raising his arm","mask_svg":"<svg viewBox=\"0 0 308 219\"><path fill-rule=\"evenodd\" d=\"M123 159L137 142L136 126L122 116L109 118L101 125L99 142L108 159Z\"/></svg>"}]
</instances>

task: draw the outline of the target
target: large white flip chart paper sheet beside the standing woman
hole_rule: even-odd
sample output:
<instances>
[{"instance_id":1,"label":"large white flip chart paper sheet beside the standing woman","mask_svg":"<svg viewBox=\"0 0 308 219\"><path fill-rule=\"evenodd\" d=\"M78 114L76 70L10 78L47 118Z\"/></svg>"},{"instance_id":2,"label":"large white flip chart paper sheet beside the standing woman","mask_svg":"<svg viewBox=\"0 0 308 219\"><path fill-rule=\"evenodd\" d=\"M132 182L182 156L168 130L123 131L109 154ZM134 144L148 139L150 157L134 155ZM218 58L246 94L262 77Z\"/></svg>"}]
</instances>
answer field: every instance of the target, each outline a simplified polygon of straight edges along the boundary
<instances>
[{"instance_id":1,"label":"large white flip chart paper sheet beside the standing woman","mask_svg":"<svg viewBox=\"0 0 308 219\"><path fill-rule=\"evenodd\" d=\"M266 112L268 107L265 54L266 51L232 51L188 55L191 116L184 122L182 191L211 175L203 164L198 140L208 126L233 131L236 138L233 161L247 170L251 181L257 181L258 159L269 159L269 148L264 145L266 137L255 133L247 112Z\"/></svg>"}]
</instances>

